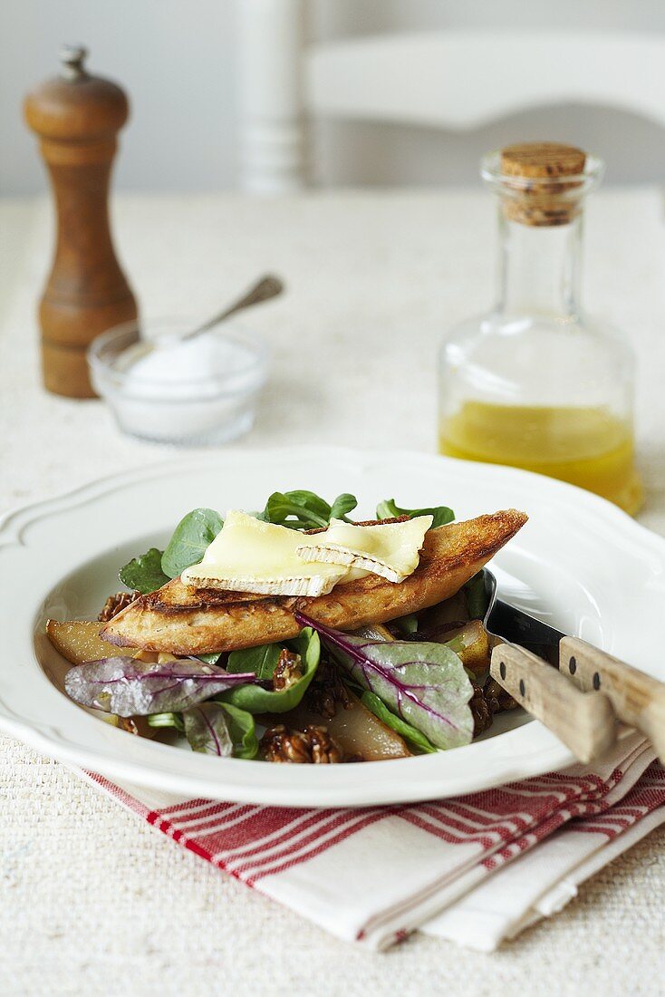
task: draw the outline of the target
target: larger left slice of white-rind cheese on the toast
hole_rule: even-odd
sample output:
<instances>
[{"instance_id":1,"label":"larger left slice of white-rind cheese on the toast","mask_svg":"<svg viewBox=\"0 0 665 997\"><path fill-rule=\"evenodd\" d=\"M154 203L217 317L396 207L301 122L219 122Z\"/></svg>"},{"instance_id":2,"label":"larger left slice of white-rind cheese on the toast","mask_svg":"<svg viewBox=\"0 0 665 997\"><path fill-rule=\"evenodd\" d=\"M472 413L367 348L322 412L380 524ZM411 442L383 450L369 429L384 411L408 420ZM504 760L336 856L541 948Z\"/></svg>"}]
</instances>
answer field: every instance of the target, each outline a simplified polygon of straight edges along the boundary
<instances>
[{"instance_id":1,"label":"larger left slice of white-rind cheese on the toast","mask_svg":"<svg viewBox=\"0 0 665 997\"><path fill-rule=\"evenodd\" d=\"M180 575L185 585L260 595L326 595L347 573L344 565L305 562L296 550L311 537L231 510L200 564Z\"/></svg>"}]
</instances>

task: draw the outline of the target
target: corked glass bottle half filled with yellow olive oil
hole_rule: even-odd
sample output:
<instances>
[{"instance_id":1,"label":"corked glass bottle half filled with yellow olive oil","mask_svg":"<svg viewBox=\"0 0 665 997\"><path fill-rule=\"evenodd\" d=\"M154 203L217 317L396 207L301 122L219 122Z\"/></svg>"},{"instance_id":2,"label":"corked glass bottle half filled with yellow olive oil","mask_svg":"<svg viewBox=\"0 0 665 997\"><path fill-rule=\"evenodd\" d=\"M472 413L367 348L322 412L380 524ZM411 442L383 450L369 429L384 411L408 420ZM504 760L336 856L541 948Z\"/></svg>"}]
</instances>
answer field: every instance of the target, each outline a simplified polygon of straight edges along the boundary
<instances>
[{"instance_id":1,"label":"corked glass bottle half filled with yellow olive oil","mask_svg":"<svg viewBox=\"0 0 665 997\"><path fill-rule=\"evenodd\" d=\"M499 303L443 344L439 448L558 478L635 513L632 351L579 305L582 200L602 168L550 143L484 160L499 193Z\"/></svg>"}]
</instances>

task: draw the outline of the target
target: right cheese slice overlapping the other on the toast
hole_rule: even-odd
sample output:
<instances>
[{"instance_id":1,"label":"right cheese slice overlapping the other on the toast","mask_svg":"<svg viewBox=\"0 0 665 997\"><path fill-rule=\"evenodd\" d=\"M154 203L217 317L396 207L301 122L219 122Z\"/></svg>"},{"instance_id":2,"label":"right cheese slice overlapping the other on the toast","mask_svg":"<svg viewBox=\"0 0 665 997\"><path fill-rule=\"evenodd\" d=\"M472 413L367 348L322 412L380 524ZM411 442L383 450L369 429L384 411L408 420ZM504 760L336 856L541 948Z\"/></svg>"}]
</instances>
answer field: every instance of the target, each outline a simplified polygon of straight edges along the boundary
<instances>
[{"instance_id":1,"label":"right cheese slice overlapping the other on the toast","mask_svg":"<svg viewBox=\"0 0 665 997\"><path fill-rule=\"evenodd\" d=\"M404 581L418 567L419 551L433 521L431 515L418 515L406 522L357 526L331 519L328 529L307 537L307 542L297 547L297 553L308 563L346 565L371 571L388 581Z\"/></svg>"}]
</instances>

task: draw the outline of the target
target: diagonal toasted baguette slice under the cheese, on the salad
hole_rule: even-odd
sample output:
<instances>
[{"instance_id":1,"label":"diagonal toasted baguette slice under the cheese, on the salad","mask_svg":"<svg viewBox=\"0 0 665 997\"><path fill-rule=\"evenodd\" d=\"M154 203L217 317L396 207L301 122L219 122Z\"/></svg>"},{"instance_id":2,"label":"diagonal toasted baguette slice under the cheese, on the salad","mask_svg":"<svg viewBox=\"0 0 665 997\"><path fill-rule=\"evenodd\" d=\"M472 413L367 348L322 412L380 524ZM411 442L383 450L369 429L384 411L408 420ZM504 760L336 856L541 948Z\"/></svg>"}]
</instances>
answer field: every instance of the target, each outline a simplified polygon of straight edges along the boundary
<instances>
[{"instance_id":1,"label":"diagonal toasted baguette slice under the cheese, on the salad","mask_svg":"<svg viewBox=\"0 0 665 997\"><path fill-rule=\"evenodd\" d=\"M426 534L420 564L404 581L371 574L316 597L213 592L175 578L129 605L101 636L121 647L206 654L288 640L300 629L295 610L340 630L383 623L454 595L525 521L506 509L439 526Z\"/></svg>"}]
</instances>

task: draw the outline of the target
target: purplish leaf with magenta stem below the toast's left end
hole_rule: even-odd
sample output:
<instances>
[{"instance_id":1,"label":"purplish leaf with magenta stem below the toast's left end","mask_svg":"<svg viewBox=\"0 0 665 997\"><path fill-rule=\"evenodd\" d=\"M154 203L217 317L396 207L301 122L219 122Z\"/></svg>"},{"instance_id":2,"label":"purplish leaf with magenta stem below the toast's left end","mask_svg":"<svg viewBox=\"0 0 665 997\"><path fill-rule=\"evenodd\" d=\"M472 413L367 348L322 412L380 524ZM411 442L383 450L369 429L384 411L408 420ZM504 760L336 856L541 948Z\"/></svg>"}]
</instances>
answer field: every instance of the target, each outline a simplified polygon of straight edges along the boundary
<instances>
[{"instance_id":1,"label":"purplish leaf with magenta stem below the toast's left end","mask_svg":"<svg viewBox=\"0 0 665 997\"><path fill-rule=\"evenodd\" d=\"M178 659L161 664L113 657L70 668L65 691L82 706L119 717L180 713L236 685L251 688L253 674L228 675L201 661Z\"/></svg>"}]
</instances>

